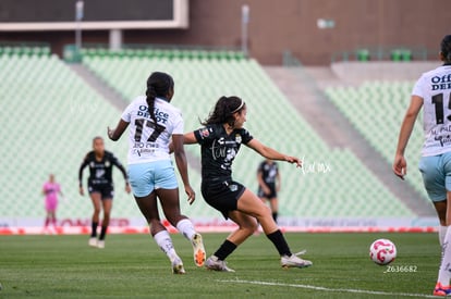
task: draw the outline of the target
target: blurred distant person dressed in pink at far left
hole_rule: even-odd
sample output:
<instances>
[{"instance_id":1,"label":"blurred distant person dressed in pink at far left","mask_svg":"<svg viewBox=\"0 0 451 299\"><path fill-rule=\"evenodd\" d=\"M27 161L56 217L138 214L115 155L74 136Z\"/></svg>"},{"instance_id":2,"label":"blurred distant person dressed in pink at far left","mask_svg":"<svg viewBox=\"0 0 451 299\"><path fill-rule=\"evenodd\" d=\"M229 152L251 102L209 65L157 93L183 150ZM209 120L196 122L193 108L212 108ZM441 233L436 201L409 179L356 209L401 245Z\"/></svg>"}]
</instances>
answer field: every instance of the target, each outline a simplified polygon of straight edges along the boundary
<instances>
[{"instance_id":1,"label":"blurred distant person dressed in pink at far left","mask_svg":"<svg viewBox=\"0 0 451 299\"><path fill-rule=\"evenodd\" d=\"M54 180L54 175L50 174L49 180L44 183L42 186L42 195L46 198L46 221L44 223L44 233L52 233L49 224L52 225L53 232L57 232L58 194L63 196L60 184Z\"/></svg>"}]
</instances>

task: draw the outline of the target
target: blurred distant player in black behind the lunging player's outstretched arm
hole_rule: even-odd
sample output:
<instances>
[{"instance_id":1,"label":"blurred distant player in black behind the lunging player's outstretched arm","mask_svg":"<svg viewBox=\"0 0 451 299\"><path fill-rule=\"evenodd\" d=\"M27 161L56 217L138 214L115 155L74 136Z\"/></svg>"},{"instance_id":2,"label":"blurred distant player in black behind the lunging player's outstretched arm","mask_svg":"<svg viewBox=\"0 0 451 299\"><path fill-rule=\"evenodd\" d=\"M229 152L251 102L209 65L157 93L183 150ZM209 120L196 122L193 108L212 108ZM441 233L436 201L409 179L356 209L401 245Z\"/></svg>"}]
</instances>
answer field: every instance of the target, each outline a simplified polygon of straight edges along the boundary
<instances>
[{"instance_id":1,"label":"blurred distant player in black behind the lunging player's outstretched arm","mask_svg":"<svg viewBox=\"0 0 451 299\"><path fill-rule=\"evenodd\" d=\"M272 219L277 223L279 202L277 194L280 190L281 179L277 163L270 159L263 161L257 169L258 191L257 195L264 203L269 201Z\"/></svg>"}]
</instances>

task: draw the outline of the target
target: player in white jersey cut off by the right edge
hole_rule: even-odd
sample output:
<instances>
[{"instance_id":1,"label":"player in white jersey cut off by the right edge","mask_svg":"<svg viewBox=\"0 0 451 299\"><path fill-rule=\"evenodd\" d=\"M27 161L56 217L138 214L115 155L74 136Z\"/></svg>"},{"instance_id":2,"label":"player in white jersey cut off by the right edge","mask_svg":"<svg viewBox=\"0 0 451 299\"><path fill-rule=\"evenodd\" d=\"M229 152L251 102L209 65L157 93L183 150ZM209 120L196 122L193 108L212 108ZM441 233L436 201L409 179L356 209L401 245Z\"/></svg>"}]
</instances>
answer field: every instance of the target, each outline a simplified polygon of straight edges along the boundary
<instances>
[{"instance_id":1,"label":"player in white jersey cut off by the right edge","mask_svg":"<svg viewBox=\"0 0 451 299\"><path fill-rule=\"evenodd\" d=\"M411 104L401 125L393 172L404 179L407 163L404 150L423 107L425 142L419 171L426 191L440 221L439 240L441 264L435 296L451 295L451 35L441 41L440 60L443 65L424 73L412 91Z\"/></svg>"}]
</instances>

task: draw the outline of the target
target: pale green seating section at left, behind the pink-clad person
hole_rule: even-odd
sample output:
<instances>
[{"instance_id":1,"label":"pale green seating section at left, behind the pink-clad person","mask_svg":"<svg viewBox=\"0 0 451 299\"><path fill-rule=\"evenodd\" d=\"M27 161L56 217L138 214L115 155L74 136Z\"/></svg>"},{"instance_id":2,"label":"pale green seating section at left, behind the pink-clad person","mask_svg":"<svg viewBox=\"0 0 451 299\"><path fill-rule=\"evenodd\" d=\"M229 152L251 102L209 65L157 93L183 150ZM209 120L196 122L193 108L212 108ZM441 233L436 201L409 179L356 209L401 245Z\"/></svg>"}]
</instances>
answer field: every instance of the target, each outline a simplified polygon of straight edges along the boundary
<instances>
[{"instance_id":1,"label":"pale green seating section at left, behind the pink-clad person","mask_svg":"<svg viewBox=\"0 0 451 299\"><path fill-rule=\"evenodd\" d=\"M92 203L77 194L77 170L90 150L92 138L105 136L121 111L92 90L57 57L0 57L2 79L2 139L0 154L8 161L0 183L1 216L44 219L41 185L54 173L68 198L61 200L59 219L87 219ZM7 88L8 87L8 88ZM126 161L127 144L106 141L121 161ZM196 180L195 172L192 178ZM85 170L84 177L88 175ZM122 188L114 172L117 198L113 217L141 216L133 197ZM197 179L198 180L198 179ZM204 209L208 214L210 210ZM210 212L211 213L211 212Z\"/></svg>"}]
</instances>

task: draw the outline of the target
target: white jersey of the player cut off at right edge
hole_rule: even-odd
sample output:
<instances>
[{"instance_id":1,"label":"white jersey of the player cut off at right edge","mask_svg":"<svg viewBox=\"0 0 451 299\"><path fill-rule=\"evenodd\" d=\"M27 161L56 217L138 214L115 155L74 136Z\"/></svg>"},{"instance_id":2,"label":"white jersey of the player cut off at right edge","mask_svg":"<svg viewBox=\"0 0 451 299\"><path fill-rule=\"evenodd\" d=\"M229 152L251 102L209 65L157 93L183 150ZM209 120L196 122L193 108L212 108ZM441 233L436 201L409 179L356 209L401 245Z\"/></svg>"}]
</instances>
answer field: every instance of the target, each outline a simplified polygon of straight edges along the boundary
<instances>
[{"instance_id":1,"label":"white jersey of the player cut off at right edge","mask_svg":"<svg viewBox=\"0 0 451 299\"><path fill-rule=\"evenodd\" d=\"M451 151L451 66L424 73L412 95L423 99L425 141L422 155Z\"/></svg>"}]
</instances>

